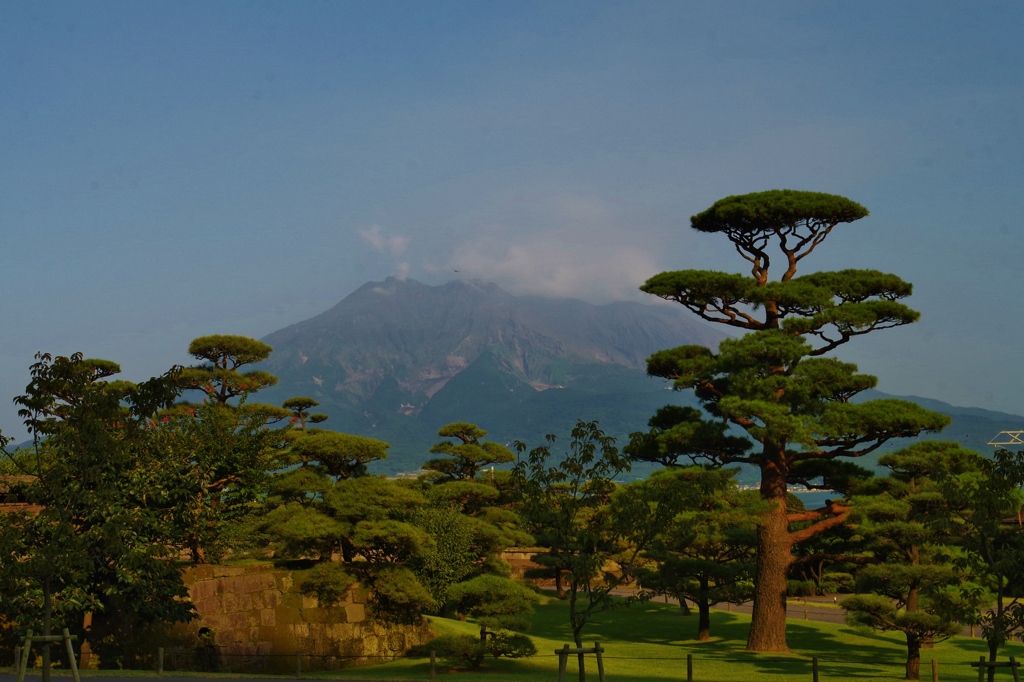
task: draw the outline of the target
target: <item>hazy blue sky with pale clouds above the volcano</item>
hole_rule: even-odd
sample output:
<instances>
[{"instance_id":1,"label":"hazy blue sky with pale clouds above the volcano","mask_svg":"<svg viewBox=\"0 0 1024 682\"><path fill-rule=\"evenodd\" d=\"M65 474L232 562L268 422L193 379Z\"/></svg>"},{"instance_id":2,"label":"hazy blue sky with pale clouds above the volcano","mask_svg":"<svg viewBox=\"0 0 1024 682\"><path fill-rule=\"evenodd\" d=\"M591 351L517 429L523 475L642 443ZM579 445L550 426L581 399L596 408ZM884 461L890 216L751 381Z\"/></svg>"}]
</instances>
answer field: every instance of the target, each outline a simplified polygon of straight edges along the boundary
<instances>
[{"instance_id":1,"label":"hazy blue sky with pale clouds above the volcano","mask_svg":"<svg viewBox=\"0 0 1024 682\"><path fill-rule=\"evenodd\" d=\"M842 357L1024 414L1022 36L1016 1L7 0L0 428L36 351L142 379L390 274L740 271L689 216L774 187L871 211L809 269L914 284Z\"/></svg>"}]
</instances>

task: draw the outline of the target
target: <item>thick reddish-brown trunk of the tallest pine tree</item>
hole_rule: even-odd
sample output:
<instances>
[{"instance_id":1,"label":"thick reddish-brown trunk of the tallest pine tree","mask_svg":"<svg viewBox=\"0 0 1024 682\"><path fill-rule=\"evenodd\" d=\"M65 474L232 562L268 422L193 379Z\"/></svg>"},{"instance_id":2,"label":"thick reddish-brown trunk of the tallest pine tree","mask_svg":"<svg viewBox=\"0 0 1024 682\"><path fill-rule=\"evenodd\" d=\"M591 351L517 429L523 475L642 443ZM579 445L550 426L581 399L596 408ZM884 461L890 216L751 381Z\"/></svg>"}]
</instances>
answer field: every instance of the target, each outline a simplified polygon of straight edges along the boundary
<instances>
[{"instance_id":1,"label":"thick reddish-brown trunk of the tallest pine tree","mask_svg":"<svg viewBox=\"0 0 1024 682\"><path fill-rule=\"evenodd\" d=\"M754 613L748 651L788 651L785 641L786 577L793 554L785 515L785 455L765 456L761 465L761 497L772 503L758 525L757 568L754 574Z\"/></svg>"}]
</instances>

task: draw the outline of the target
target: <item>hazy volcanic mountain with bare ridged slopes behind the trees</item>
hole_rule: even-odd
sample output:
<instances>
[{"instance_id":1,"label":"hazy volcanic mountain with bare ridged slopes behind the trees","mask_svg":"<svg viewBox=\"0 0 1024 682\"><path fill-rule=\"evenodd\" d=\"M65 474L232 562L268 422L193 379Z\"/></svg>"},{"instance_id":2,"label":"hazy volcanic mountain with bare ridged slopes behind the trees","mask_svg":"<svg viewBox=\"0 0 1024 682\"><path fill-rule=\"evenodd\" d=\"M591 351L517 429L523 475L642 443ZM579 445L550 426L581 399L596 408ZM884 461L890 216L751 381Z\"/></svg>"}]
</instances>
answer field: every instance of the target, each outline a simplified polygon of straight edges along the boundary
<instances>
[{"instance_id":1,"label":"hazy volcanic mountain with bare ridged slopes behind the trees","mask_svg":"<svg viewBox=\"0 0 1024 682\"><path fill-rule=\"evenodd\" d=\"M565 437L578 419L597 420L625 442L668 402L695 404L689 391L667 390L644 373L655 350L726 338L672 306L513 296L483 282L430 287L413 280L369 283L330 310L274 332L264 368L281 383L260 400L292 395L319 400L325 426L391 443L378 470L414 471L427 459L437 429L469 421L501 442L540 444ZM861 399L893 397L867 391ZM908 397L953 417L929 438L980 452L1024 417ZM865 458L909 441L887 444ZM648 469L637 473L644 475ZM744 470L744 482L757 473Z\"/></svg>"}]
</instances>

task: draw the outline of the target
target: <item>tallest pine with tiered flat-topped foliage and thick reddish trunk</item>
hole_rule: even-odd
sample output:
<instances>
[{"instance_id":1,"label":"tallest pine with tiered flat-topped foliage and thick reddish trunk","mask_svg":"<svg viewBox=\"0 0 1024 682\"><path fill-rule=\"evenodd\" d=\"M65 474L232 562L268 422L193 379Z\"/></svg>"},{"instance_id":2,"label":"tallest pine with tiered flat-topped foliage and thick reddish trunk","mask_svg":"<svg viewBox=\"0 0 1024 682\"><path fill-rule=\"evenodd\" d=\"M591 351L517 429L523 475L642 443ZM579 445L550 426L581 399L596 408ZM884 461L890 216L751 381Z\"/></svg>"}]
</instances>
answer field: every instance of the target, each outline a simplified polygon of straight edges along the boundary
<instances>
[{"instance_id":1,"label":"tallest pine with tiered flat-topped foliage and thick reddish trunk","mask_svg":"<svg viewBox=\"0 0 1024 682\"><path fill-rule=\"evenodd\" d=\"M678 270L656 274L641 287L701 319L749 332L722 341L717 352L695 345L659 351L648 358L647 372L673 380L677 389L693 389L707 412L669 434L676 452L715 465L745 463L760 469L761 496L770 504L758 527L750 650L787 650L792 548L842 524L850 513L842 501L787 513L786 485L828 485L837 458L861 457L891 438L949 423L948 417L909 401L850 401L877 380L825 356L854 337L919 316L901 302L910 295L910 285L893 274L847 269L797 276L801 262L833 229L866 215L855 202L818 193L727 197L690 222L698 231L724 235L750 264L751 274ZM782 271L772 281L776 254ZM744 430L754 446L737 453L724 430L715 435L717 423ZM791 530L791 523L804 521L812 523Z\"/></svg>"}]
</instances>

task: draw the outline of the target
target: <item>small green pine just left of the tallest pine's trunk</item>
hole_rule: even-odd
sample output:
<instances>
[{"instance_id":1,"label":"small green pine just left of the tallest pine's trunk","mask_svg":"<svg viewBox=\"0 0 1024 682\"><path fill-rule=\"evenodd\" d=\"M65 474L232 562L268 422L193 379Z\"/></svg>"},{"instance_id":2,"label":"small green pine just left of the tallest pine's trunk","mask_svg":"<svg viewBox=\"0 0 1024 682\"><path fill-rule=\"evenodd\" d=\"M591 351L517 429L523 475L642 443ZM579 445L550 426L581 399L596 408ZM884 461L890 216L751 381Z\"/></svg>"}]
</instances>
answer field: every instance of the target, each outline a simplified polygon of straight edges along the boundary
<instances>
[{"instance_id":1,"label":"small green pine just left of the tallest pine's trunk","mask_svg":"<svg viewBox=\"0 0 1024 682\"><path fill-rule=\"evenodd\" d=\"M697 640L711 638L711 607L742 603L753 589L757 517L763 504L753 492L736 488L734 469L688 467L655 472L634 485L671 485L684 496L683 508L646 552L657 562L642 572L644 588L669 594L697 608Z\"/></svg>"}]
</instances>

